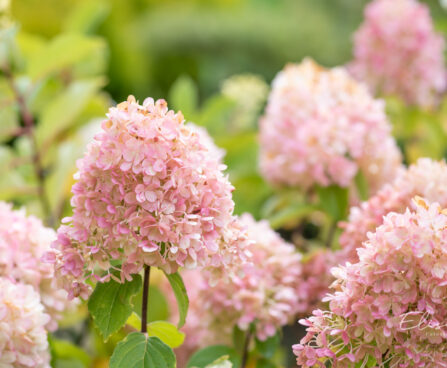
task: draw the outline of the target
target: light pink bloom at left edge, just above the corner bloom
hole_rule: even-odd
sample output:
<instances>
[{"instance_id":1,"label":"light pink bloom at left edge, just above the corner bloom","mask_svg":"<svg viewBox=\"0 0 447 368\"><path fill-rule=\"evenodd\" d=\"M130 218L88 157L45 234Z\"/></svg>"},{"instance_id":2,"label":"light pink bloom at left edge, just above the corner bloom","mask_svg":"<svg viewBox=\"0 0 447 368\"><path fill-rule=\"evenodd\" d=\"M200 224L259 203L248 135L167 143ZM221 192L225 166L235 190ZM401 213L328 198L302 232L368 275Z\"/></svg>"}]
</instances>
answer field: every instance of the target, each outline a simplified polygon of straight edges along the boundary
<instances>
[{"instance_id":1,"label":"light pink bloom at left edge, just above the corner bloom","mask_svg":"<svg viewBox=\"0 0 447 368\"><path fill-rule=\"evenodd\" d=\"M41 261L55 239L54 230L45 227L41 220L0 202L0 277L35 288L46 313L52 317L47 326L50 330L56 329L56 320L70 305L67 292L53 285L53 267Z\"/></svg>"}]
</instances>

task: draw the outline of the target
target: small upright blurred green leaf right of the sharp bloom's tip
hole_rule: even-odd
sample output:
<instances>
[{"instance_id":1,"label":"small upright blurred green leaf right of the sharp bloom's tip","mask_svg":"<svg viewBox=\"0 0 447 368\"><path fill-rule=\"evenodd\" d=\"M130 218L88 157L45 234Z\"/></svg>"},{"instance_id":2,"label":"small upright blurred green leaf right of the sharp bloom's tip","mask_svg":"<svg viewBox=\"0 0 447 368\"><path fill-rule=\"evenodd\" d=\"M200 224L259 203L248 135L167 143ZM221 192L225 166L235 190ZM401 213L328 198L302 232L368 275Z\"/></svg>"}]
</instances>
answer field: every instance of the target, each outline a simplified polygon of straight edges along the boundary
<instances>
[{"instance_id":1,"label":"small upright blurred green leaf right of the sharp bloom's tip","mask_svg":"<svg viewBox=\"0 0 447 368\"><path fill-rule=\"evenodd\" d=\"M197 86L189 76L179 77L169 91L169 102L174 110L181 110L191 120L197 110L199 96Z\"/></svg>"}]
</instances>

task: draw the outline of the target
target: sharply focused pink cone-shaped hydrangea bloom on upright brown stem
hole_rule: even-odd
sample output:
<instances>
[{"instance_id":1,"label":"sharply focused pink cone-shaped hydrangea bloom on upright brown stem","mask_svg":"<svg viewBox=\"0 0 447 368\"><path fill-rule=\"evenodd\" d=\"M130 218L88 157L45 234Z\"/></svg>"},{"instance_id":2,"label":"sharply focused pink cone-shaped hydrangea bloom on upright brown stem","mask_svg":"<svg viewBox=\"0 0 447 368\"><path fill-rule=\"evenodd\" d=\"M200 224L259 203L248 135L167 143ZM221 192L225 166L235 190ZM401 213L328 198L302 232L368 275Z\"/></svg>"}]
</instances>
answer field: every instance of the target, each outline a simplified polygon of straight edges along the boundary
<instances>
[{"instance_id":1,"label":"sharply focused pink cone-shaped hydrangea bloom on upright brown stem","mask_svg":"<svg viewBox=\"0 0 447 368\"><path fill-rule=\"evenodd\" d=\"M106 281L117 268L124 280L144 265L170 273L236 262L233 187L202 135L164 100L131 96L107 117L78 161L74 214L54 243L70 296L87 297L87 279Z\"/></svg>"}]
</instances>

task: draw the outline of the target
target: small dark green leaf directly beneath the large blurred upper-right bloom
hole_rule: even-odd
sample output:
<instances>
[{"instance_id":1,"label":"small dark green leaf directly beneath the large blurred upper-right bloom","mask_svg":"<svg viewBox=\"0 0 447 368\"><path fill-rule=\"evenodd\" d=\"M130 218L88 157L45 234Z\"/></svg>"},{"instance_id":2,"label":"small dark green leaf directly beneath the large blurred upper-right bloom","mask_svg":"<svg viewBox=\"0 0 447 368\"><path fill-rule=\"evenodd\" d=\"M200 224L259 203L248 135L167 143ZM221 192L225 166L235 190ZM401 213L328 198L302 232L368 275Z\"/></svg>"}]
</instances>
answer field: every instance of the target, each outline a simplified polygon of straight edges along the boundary
<instances>
[{"instance_id":1,"label":"small dark green leaf directly beneath the large blurred upper-right bloom","mask_svg":"<svg viewBox=\"0 0 447 368\"><path fill-rule=\"evenodd\" d=\"M338 185L317 187L321 208L334 220L339 221L346 217L349 208L349 191Z\"/></svg>"}]
</instances>

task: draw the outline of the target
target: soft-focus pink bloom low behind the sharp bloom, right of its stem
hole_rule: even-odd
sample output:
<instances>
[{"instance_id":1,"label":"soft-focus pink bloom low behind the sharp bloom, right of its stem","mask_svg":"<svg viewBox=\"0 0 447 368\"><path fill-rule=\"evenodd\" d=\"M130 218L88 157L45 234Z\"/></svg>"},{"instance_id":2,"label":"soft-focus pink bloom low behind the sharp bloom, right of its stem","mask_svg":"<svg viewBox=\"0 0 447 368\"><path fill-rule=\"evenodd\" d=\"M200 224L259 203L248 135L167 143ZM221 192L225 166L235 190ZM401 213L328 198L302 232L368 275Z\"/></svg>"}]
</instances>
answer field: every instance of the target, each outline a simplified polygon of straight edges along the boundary
<instances>
[{"instance_id":1,"label":"soft-focus pink bloom low behind the sharp bloom, right of its stem","mask_svg":"<svg viewBox=\"0 0 447 368\"><path fill-rule=\"evenodd\" d=\"M247 330L252 322L256 336L265 340L301 311L301 254L266 221L256 222L249 214L242 215L239 221L247 230L250 244L246 250L251 254L240 273L222 277L214 284L210 284L208 272L191 277L190 285L186 280L188 292L202 285L188 312L187 325L194 326L188 327L186 340L192 339L192 345L231 339L234 326ZM199 324L202 328L197 327Z\"/></svg>"}]
</instances>

